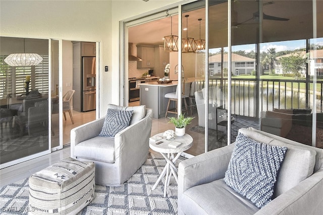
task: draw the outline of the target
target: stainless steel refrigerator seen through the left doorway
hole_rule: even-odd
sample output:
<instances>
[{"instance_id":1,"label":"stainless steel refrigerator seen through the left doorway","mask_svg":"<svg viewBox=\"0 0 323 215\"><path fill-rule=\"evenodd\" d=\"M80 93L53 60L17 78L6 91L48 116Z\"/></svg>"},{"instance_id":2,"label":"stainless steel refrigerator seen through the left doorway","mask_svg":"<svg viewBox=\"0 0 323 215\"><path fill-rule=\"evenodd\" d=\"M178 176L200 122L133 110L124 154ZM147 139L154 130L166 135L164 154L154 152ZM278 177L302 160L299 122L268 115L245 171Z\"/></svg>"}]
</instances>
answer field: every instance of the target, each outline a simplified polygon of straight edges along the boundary
<instances>
[{"instance_id":1,"label":"stainless steel refrigerator seen through the left doorway","mask_svg":"<svg viewBox=\"0 0 323 215\"><path fill-rule=\"evenodd\" d=\"M82 112L95 110L95 57L82 57Z\"/></svg>"}]
</instances>

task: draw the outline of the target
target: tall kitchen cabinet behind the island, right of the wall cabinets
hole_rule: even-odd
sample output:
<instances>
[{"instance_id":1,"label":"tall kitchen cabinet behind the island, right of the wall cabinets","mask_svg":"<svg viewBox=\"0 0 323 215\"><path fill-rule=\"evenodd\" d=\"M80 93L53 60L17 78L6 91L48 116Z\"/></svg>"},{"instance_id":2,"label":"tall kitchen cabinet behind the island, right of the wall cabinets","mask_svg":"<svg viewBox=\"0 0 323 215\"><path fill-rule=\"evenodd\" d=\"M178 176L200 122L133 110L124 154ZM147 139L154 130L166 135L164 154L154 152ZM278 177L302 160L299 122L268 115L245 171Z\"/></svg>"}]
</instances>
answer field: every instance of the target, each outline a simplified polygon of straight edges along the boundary
<instances>
[{"instance_id":1,"label":"tall kitchen cabinet behind the island, right of the wall cabinets","mask_svg":"<svg viewBox=\"0 0 323 215\"><path fill-rule=\"evenodd\" d=\"M164 70L170 63L170 52L164 50L164 45L155 46L155 67L153 73L155 76L163 78Z\"/></svg>"}]
</instances>

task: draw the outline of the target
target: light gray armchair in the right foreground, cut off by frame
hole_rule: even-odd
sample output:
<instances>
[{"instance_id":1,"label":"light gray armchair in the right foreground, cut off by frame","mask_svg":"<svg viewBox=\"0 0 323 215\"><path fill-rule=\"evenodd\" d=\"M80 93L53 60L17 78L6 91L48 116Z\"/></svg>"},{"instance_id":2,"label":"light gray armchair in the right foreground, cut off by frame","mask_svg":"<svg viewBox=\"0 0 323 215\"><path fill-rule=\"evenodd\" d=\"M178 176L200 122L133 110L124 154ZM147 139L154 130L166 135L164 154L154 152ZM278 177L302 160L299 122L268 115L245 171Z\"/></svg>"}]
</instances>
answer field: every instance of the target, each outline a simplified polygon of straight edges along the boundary
<instances>
[{"instance_id":1,"label":"light gray armchair in the right foreground, cut off by frame","mask_svg":"<svg viewBox=\"0 0 323 215\"><path fill-rule=\"evenodd\" d=\"M248 138L287 147L272 200L259 208L225 182L235 143L179 164L178 214L322 214L323 150L253 128Z\"/></svg>"}]
</instances>

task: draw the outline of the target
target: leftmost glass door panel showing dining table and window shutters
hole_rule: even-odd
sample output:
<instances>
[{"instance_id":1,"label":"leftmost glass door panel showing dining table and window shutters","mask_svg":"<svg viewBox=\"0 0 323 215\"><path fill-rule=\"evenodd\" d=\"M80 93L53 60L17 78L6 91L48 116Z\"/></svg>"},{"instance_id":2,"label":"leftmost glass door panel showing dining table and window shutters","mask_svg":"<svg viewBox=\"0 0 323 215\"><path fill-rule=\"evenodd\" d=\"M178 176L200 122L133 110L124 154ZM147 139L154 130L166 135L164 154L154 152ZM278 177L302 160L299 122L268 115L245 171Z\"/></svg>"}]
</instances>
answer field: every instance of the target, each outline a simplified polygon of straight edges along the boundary
<instances>
[{"instance_id":1,"label":"leftmost glass door panel showing dining table and window shutters","mask_svg":"<svg viewBox=\"0 0 323 215\"><path fill-rule=\"evenodd\" d=\"M0 38L0 164L48 149L48 40ZM11 53L38 53L36 66L11 67Z\"/></svg>"}]
</instances>

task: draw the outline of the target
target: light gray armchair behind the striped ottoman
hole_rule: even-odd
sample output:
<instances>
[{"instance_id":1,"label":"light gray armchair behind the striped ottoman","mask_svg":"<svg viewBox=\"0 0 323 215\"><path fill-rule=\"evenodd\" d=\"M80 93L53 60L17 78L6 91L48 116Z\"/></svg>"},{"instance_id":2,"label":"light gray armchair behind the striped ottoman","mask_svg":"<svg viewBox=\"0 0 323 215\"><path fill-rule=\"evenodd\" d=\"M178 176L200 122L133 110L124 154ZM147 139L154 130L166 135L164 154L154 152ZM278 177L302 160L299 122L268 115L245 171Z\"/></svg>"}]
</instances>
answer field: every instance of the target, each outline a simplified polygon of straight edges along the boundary
<instances>
[{"instance_id":1,"label":"light gray armchair behind the striped ottoman","mask_svg":"<svg viewBox=\"0 0 323 215\"><path fill-rule=\"evenodd\" d=\"M152 124L152 110L145 105L107 109L134 110L130 125L115 137L98 136L104 117L71 130L71 157L95 163L95 183L120 186L146 161Z\"/></svg>"}]
</instances>

